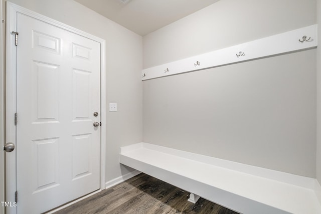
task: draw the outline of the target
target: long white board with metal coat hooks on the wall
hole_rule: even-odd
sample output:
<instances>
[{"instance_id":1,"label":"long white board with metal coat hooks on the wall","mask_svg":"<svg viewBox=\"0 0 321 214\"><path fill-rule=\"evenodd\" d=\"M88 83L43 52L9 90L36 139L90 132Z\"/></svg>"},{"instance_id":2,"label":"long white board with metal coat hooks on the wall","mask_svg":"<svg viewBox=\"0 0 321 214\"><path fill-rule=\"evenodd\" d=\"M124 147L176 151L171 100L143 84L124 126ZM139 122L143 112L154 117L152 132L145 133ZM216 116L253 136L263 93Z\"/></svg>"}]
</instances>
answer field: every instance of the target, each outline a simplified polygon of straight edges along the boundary
<instances>
[{"instance_id":1,"label":"long white board with metal coat hooks on the wall","mask_svg":"<svg viewBox=\"0 0 321 214\"><path fill-rule=\"evenodd\" d=\"M203 70L317 46L317 25L143 69L142 80Z\"/></svg>"}]
</instances>

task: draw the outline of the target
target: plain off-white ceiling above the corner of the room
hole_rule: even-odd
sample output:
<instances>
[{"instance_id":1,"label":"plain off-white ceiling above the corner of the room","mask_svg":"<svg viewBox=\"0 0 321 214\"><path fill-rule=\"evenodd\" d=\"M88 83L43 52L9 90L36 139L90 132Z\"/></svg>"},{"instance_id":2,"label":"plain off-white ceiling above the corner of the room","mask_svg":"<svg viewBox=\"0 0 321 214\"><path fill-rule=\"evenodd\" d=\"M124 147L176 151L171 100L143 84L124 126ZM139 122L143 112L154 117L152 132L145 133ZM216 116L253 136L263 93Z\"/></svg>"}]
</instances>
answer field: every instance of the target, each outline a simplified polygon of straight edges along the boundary
<instances>
[{"instance_id":1,"label":"plain off-white ceiling above the corner of the room","mask_svg":"<svg viewBox=\"0 0 321 214\"><path fill-rule=\"evenodd\" d=\"M129 30L145 36L219 0L75 1Z\"/></svg>"}]
</instances>

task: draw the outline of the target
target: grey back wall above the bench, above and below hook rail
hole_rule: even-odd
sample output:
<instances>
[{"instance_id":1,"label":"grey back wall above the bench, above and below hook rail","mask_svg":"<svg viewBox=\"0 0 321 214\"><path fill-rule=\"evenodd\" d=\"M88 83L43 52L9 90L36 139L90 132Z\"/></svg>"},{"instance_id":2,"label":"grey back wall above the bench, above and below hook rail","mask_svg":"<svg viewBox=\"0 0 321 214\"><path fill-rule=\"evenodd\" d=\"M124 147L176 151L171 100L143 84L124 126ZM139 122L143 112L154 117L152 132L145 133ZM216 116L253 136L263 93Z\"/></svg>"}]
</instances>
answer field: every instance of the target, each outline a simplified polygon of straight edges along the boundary
<instances>
[{"instance_id":1,"label":"grey back wall above the bench, above and below hook rail","mask_svg":"<svg viewBox=\"0 0 321 214\"><path fill-rule=\"evenodd\" d=\"M221 0L143 37L143 67L315 24L315 6ZM144 81L143 141L315 177L315 72L313 49Z\"/></svg>"}]
</instances>

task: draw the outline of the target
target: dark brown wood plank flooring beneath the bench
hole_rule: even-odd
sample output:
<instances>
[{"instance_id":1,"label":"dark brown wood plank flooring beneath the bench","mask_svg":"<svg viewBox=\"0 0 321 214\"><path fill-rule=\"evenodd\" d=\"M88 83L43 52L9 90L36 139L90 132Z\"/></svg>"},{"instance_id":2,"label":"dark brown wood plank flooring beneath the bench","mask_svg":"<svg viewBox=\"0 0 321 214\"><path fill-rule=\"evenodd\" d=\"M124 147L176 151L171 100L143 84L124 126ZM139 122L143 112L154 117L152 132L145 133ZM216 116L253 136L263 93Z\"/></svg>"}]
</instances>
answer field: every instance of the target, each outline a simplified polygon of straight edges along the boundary
<instances>
[{"instance_id":1,"label":"dark brown wood plank flooring beneath the bench","mask_svg":"<svg viewBox=\"0 0 321 214\"><path fill-rule=\"evenodd\" d=\"M189 192L146 174L139 174L109 189L55 212L55 214L237 214L200 198L187 201Z\"/></svg>"}]
</instances>

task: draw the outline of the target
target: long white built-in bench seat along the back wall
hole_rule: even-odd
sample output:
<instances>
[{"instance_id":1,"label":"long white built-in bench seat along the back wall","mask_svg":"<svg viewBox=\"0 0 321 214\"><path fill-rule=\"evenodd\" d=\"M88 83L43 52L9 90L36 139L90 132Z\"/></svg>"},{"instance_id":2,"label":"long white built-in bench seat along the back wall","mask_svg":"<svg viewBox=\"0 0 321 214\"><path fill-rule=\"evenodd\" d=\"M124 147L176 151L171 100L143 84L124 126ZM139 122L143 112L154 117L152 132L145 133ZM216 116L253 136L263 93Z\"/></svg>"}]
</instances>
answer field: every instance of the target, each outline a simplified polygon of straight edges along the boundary
<instances>
[{"instance_id":1,"label":"long white built-in bench seat along the back wall","mask_svg":"<svg viewBox=\"0 0 321 214\"><path fill-rule=\"evenodd\" d=\"M313 178L138 143L120 163L240 213L321 213Z\"/></svg>"}]
</instances>

